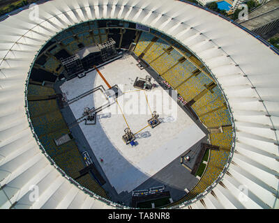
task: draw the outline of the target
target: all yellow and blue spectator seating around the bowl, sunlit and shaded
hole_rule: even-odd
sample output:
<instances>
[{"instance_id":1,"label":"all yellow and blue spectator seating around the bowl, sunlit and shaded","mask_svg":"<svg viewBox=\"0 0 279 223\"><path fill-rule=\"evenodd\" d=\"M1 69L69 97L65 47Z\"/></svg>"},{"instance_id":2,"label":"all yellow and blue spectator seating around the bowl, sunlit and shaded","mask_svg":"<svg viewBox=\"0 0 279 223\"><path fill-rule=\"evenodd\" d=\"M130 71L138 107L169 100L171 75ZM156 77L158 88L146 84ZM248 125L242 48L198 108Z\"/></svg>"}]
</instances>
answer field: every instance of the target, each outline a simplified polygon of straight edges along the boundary
<instances>
[{"instance_id":1,"label":"all yellow and blue spectator seating around the bowl, sunlit and shaded","mask_svg":"<svg viewBox=\"0 0 279 223\"><path fill-rule=\"evenodd\" d=\"M93 33L89 33L89 29L93 29ZM77 34L77 38L73 38L73 33ZM93 34L93 38L91 34ZM154 35L156 38L154 38ZM107 33L105 29L98 29L98 22L95 21L59 33L56 40L61 41L68 52L73 53L78 49L79 42L84 43L84 45L104 43L107 40ZM50 53L56 54L60 49L60 47L54 47L50 50ZM229 151L232 147L233 131L230 127L232 123L225 98L218 85L211 90L206 89L214 82L208 70L185 47L165 36L165 34L152 29L151 33L142 32L134 52L137 56L142 56L142 59L149 63L153 70L163 77L184 100L190 102L195 97L197 98L191 107L207 128L227 126L223 128L223 132L209 134L211 144L219 146L220 150L211 151L204 174L197 185L193 187L193 190L183 198L183 201L192 199L197 194L204 192L206 187L209 187L218 178L227 163ZM54 58L47 58L45 63L47 70L54 72L58 66L59 62ZM196 72L198 71L197 66L199 66L199 69L202 68L204 72ZM51 95L53 93L52 89L43 86L29 86L29 95ZM197 97L197 95L201 96ZM54 143L54 139L69 133L56 100L29 101L29 114L40 142L61 169L66 171L69 176L74 176L77 171L84 168L84 162L75 141L68 141L61 146L56 146ZM100 196L107 196L103 188L90 174L82 176L77 181Z\"/></svg>"}]
</instances>

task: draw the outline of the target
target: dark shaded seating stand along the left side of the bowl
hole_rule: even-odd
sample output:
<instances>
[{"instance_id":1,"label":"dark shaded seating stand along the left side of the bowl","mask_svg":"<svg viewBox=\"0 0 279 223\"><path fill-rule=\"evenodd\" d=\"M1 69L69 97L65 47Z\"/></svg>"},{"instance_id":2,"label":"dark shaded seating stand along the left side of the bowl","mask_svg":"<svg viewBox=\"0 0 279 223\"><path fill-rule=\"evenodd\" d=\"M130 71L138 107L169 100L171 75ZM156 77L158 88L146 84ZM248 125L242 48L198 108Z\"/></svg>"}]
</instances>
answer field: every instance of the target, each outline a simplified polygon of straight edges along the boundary
<instances>
[{"instance_id":1,"label":"dark shaded seating stand along the left side of the bowl","mask_svg":"<svg viewBox=\"0 0 279 223\"><path fill-rule=\"evenodd\" d=\"M49 87L29 84L28 95L53 95L54 93L54 89ZM55 144L54 139L70 133L56 99L29 101L29 114L33 129L47 154L68 176L76 178L79 171L86 167L86 164L84 164L82 155L73 139L60 146ZM105 190L98 185L93 176L86 174L80 177L77 182L99 196L107 198Z\"/></svg>"}]
</instances>

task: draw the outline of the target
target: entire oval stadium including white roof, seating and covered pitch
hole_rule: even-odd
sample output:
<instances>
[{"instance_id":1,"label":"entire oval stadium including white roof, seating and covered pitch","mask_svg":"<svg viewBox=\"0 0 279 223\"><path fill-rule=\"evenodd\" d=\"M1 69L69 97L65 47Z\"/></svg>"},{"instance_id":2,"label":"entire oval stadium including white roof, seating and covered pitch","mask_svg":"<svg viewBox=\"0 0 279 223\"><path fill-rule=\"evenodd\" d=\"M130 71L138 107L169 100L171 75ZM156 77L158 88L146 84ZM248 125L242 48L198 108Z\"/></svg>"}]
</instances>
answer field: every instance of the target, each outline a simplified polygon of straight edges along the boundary
<instances>
[{"instance_id":1,"label":"entire oval stadium including white roof, seating and covered pitch","mask_svg":"<svg viewBox=\"0 0 279 223\"><path fill-rule=\"evenodd\" d=\"M0 208L279 208L255 33L174 0L42 1L0 30Z\"/></svg>"}]
</instances>

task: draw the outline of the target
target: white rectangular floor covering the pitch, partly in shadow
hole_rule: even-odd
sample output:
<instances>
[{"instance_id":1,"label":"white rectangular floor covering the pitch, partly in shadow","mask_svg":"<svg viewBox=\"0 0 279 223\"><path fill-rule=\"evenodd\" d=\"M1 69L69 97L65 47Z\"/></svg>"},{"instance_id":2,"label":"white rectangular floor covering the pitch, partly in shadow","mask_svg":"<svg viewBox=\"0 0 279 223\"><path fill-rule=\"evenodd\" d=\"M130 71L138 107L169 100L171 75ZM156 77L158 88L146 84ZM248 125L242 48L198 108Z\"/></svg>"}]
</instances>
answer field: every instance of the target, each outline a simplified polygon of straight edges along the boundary
<instances>
[{"instance_id":1,"label":"white rectangular floor covering the pitch, partly in shadow","mask_svg":"<svg viewBox=\"0 0 279 223\"><path fill-rule=\"evenodd\" d=\"M133 87L137 77L149 75L136 64L133 56L125 56L99 68L110 86L117 84L123 94L117 102L112 100L110 107L97 114L96 125L79 124L107 179L119 194L134 190L205 136L160 86L151 91L139 91ZM100 85L108 89L98 72L93 70L86 77L64 82L61 91L70 100ZM163 105L169 107L167 111L160 111L160 100L152 100L155 92L168 98L168 102L163 100ZM84 107L99 107L107 102L104 93L96 91L69 106L75 118L80 118ZM156 128L146 127L154 110L162 123ZM127 124L134 134L146 127L135 134L136 146L126 145L122 140Z\"/></svg>"}]
</instances>

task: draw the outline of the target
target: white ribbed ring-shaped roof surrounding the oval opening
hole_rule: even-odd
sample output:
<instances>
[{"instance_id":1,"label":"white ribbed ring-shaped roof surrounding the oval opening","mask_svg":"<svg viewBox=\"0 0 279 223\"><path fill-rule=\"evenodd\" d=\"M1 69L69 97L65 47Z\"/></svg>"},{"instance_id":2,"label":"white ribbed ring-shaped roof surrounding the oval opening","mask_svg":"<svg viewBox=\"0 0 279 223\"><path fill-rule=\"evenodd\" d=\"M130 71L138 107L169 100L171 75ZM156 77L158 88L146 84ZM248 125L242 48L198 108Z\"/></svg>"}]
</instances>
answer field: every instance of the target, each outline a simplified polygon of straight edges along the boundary
<instances>
[{"instance_id":1,"label":"white ribbed ring-shaped roof surrounding the oval opening","mask_svg":"<svg viewBox=\"0 0 279 223\"><path fill-rule=\"evenodd\" d=\"M38 6L38 19L30 8L0 22L0 207L115 208L70 184L41 153L24 93L33 59L47 40L69 25L109 18L178 40L227 95L236 125L234 155L222 183L204 193L206 208L279 208L278 54L235 23L174 0L54 0ZM43 192L33 201L30 188L36 184ZM190 206L205 207L199 200Z\"/></svg>"}]
</instances>

